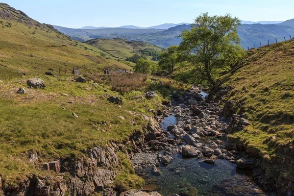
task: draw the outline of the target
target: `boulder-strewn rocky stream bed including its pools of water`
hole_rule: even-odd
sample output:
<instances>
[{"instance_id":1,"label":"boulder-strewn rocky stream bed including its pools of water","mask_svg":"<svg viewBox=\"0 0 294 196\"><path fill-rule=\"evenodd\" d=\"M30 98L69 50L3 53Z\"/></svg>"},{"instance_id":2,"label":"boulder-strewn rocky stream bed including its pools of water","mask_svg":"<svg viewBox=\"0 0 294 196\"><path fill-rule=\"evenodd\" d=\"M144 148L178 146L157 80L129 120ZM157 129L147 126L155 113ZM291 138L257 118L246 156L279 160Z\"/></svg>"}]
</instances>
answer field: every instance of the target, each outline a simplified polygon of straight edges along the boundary
<instances>
[{"instance_id":1,"label":"boulder-strewn rocky stream bed including its pools of water","mask_svg":"<svg viewBox=\"0 0 294 196\"><path fill-rule=\"evenodd\" d=\"M227 142L227 133L250 124L246 115L227 117L227 105L206 103L206 95L196 87L174 92L157 117L161 131L145 135L146 146L132 157L144 190L162 196L274 196L258 161Z\"/></svg>"}]
</instances>

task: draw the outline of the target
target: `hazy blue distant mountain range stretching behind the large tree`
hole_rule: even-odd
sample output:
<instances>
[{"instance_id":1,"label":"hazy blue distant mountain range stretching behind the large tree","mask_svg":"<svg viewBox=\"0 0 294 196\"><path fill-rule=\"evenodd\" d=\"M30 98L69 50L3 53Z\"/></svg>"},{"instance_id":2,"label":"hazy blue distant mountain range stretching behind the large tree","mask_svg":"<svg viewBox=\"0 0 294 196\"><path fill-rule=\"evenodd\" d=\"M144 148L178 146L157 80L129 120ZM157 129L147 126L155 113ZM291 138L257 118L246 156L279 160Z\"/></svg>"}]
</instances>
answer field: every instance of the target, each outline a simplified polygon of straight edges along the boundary
<instances>
[{"instance_id":1,"label":"hazy blue distant mountain range stretching behind the large tree","mask_svg":"<svg viewBox=\"0 0 294 196\"><path fill-rule=\"evenodd\" d=\"M147 42L152 45L167 48L172 45L179 45L181 38L179 37L182 30L191 28L191 25L176 25L168 29L130 29L130 28L105 28L105 29L70 29L61 28L57 29L65 34L69 34L73 39L82 39L87 41L94 38L123 38L127 40L136 40ZM266 45L268 40L274 43L275 39L278 42L290 39L291 35L294 37L294 19L285 21L280 24L244 24L240 27L238 34L241 38L241 46L248 49Z\"/></svg>"}]
</instances>

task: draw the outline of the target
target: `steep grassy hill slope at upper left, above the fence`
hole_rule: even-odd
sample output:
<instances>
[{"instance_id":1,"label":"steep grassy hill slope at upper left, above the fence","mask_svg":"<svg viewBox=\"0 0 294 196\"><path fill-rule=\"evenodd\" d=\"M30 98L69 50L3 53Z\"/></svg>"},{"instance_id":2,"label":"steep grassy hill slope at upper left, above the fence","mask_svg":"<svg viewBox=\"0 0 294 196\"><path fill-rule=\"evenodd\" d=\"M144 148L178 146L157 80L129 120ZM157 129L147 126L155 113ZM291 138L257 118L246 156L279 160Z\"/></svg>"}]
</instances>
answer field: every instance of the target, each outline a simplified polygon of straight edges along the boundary
<instances>
[{"instance_id":1,"label":"steep grassy hill slope at upper left, above the fence","mask_svg":"<svg viewBox=\"0 0 294 196\"><path fill-rule=\"evenodd\" d=\"M118 66L131 69L115 60L106 60L103 51L71 40L50 25L40 24L25 13L0 4L0 79L25 74L44 74L59 68L68 74L74 66L98 62L97 68ZM107 54L107 53L105 53Z\"/></svg>"}]
</instances>

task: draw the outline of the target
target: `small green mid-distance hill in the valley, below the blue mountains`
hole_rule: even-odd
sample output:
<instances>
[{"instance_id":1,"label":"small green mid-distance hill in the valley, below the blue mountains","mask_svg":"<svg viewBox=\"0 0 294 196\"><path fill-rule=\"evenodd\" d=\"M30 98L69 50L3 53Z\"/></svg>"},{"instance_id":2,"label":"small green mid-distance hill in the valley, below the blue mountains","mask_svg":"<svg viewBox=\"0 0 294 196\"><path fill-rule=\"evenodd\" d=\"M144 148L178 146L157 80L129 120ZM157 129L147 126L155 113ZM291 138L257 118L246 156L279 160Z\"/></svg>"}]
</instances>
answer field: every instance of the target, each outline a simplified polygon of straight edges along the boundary
<instances>
[{"instance_id":1,"label":"small green mid-distance hill in the valley, below the blue mountains","mask_svg":"<svg viewBox=\"0 0 294 196\"><path fill-rule=\"evenodd\" d=\"M134 54L143 54L146 51L159 53L163 49L147 42L128 41L125 39L114 38L114 39L94 39L86 42L108 54L114 58L125 60L127 57L131 57ZM152 56L148 55L149 59Z\"/></svg>"}]
</instances>

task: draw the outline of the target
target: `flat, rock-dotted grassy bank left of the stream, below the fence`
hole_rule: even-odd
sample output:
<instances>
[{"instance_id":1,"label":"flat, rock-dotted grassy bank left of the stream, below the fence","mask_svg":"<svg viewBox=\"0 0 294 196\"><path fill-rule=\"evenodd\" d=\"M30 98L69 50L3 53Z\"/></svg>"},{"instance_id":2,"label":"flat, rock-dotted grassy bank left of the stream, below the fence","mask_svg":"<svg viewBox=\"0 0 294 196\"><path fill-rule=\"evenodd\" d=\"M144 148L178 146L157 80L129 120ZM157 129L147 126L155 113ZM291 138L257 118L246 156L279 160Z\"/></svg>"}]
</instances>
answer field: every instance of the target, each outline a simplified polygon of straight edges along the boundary
<instances>
[{"instance_id":1,"label":"flat, rock-dotted grassy bank left of the stream, below the fence","mask_svg":"<svg viewBox=\"0 0 294 196\"><path fill-rule=\"evenodd\" d=\"M111 86L41 78L47 85L44 90L26 88L26 78L0 84L0 108L5 111L0 113L0 173L4 179L38 173L27 161L31 151L38 152L40 163L44 163L75 159L95 146L125 141L147 123L142 115L134 116L129 111L151 114L149 109L161 108L162 97L147 100L143 91L121 95L120 107L106 101L104 89L110 95L118 94ZM20 86L25 87L25 95L15 93ZM73 112L78 118L72 116Z\"/></svg>"}]
</instances>

